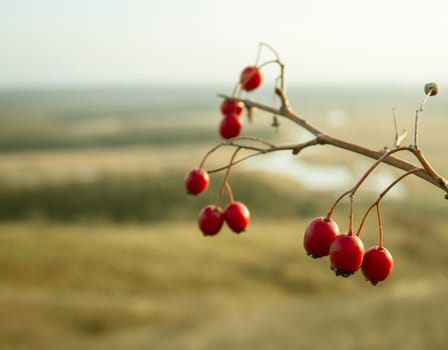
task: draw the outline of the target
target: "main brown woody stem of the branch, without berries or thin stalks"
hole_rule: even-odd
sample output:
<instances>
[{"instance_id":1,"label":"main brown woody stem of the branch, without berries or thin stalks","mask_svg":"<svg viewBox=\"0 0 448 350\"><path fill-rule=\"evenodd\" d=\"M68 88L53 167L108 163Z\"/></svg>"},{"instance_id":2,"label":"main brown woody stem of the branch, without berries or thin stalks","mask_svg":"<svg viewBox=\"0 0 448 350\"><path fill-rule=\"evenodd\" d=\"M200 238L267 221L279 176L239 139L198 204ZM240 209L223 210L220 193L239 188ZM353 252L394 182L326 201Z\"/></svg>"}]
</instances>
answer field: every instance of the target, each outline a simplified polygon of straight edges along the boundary
<instances>
[{"instance_id":1,"label":"main brown woody stem of the branch, without berries or thin stalks","mask_svg":"<svg viewBox=\"0 0 448 350\"><path fill-rule=\"evenodd\" d=\"M273 152L273 151L277 151L277 150L290 149L290 150L293 150L294 154L297 154L300 150L302 150L308 146L320 144L320 145L330 145L330 146L334 146L337 148L341 148L341 149L344 149L344 150L347 150L347 151L350 151L353 153L357 153L357 154L360 154L360 155L363 155L363 156L366 156L368 158L372 158L375 160L377 160L378 158L380 158L384 155L385 150L381 150L381 151L373 150L373 149L370 149L370 148L367 148L367 147L364 147L364 146L361 146L361 145L358 145L358 144L355 144L355 143L352 143L349 141L345 141L345 140L336 138L334 136L330 136L328 134L325 134L323 131L314 127L313 125L308 123L305 119L303 119L302 117L300 117L299 115L297 115L296 113L294 113L292 111L292 109L288 106L288 101L287 101L286 95L284 93L284 90L277 88L277 89L275 89L275 92L281 100L280 108L274 108L269 105L266 105L266 104L263 104L263 103L260 103L257 101L253 101L250 99L230 97L230 96L222 95L222 94L218 95L219 97L222 97L225 99L233 99L233 100L241 101L242 103L244 103L244 105L248 109L257 108L259 110L268 112L270 114L275 114L275 115L281 116L283 118L286 118L286 119L290 120L291 122L299 125L300 127L302 127L303 129L307 130L308 132L310 132L312 135L315 136L315 140L306 142L304 144L298 144L296 146L282 147L280 149L277 149L277 147L276 147L273 149L261 151L260 153L268 153L268 152ZM420 149L409 147L409 150L416 156L418 161L423 166L423 169L421 169L418 165L416 165L414 163L408 162L406 160L403 160L403 159L401 159L399 157L395 157L395 156L387 157L387 158L383 159L382 162L385 164L388 164L392 167L404 170L406 172L415 170L415 172L413 172L413 174L415 176L418 176L421 179L423 179L423 180L431 183L432 185L437 186L438 188L445 191L446 192L445 198L448 199L448 181L445 178L443 178L442 176L440 176L433 169L433 167L426 160L426 158L423 155L423 152ZM220 170L225 169L225 168L226 167L221 168ZM216 169L215 171L218 171L218 170Z\"/></svg>"}]
</instances>

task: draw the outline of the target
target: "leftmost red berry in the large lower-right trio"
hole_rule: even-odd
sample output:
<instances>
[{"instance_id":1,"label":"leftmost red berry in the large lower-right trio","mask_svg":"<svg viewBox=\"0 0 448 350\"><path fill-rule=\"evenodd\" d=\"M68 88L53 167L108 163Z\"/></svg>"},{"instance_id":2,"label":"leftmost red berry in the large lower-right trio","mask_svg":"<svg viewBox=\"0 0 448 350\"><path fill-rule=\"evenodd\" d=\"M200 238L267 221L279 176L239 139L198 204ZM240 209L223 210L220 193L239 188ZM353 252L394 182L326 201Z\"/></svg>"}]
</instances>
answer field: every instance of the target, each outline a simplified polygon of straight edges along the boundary
<instances>
[{"instance_id":1,"label":"leftmost red berry in the large lower-right trio","mask_svg":"<svg viewBox=\"0 0 448 350\"><path fill-rule=\"evenodd\" d=\"M339 227L333 220L324 217L313 219L305 230L303 247L308 255L313 258L327 256L330 244L339 234Z\"/></svg>"}]
</instances>

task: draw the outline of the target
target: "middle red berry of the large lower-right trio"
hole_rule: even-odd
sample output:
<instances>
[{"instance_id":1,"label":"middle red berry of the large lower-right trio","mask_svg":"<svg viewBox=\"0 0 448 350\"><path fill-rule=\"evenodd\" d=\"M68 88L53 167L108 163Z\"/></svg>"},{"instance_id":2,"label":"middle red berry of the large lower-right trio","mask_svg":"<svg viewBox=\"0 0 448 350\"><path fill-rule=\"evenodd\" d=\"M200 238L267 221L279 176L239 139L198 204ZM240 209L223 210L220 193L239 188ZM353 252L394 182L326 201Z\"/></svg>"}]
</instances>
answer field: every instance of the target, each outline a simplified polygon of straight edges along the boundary
<instances>
[{"instance_id":1,"label":"middle red berry of the large lower-right trio","mask_svg":"<svg viewBox=\"0 0 448 350\"><path fill-rule=\"evenodd\" d=\"M336 276L348 277L357 271L364 257L364 245L358 236L339 235L330 245L331 269Z\"/></svg>"}]
</instances>

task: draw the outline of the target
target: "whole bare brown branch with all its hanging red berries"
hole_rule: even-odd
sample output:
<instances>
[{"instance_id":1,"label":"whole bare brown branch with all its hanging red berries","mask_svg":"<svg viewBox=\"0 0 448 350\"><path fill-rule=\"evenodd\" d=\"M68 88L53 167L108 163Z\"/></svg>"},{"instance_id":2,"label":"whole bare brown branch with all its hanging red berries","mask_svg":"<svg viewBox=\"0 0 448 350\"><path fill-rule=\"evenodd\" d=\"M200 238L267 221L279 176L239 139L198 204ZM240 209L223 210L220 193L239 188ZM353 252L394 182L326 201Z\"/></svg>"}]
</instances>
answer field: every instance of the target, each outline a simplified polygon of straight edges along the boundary
<instances>
[{"instance_id":1,"label":"whole bare brown branch with all its hanging red berries","mask_svg":"<svg viewBox=\"0 0 448 350\"><path fill-rule=\"evenodd\" d=\"M268 48L275 56L275 59L265 61L259 64L260 51L262 47ZM280 68L280 75L276 79L275 94L279 97L281 106L275 108L267 106L251 100L244 100L240 98L240 93L250 92L257 89L263 82L263 75L261 68L267 64L275 63ZM239 76L238 83L236 84L233 94L231 96L223 95L224 101L220 106L220 111L223 118L220 123L219 133L225 139L221 144L212 148L202 160L198 168L192 169L185 177L185 186L188 193L198 195L204 192L210 182L209 173L226 170L226 174L218 198L215 204L210 204L204 207L198 217L198 225L204 236L214 236L220 232L224 223L235 233L243 232L249 225L250 213L247 207L233 199L233 194L228 183L230 169L234 164L241 162L242 160L254 155L266 154L269 152L289 150L293 154L298 154L303 149L315 146L315 145L333 145L345 150L349 150L355 153L362 154L369 158L376 158L374 164L365 172L365 174L359 179L359 181L347 192L343 193L332 205L326 216L320 216L313 219L305 230L303 237L303 246L308 255L312 258L322 258L329 256L331 269L337 276L349 277L356 271L361 270L364 277L370 281L373 285L378 282L386 280L393 269L394 261L392 255L383 245L383 229L380 213L380 201L392 189L399 181L411 174L419 175L421 178L429 181L433 185L435 184L439 188L443 189L447 194L448 199L448 180L443 179L439 174L435 172L432 166L428 163L424 157L421 149L417 146L418 135L418 120L423 106L430 96L437 95L439 88L435 83L428 83L424 87L425 99L421 103L420 107L416 110L415 115L415 128L414 128L414 143L408 147L400 146L400 143L406 137L406 130L402 134L397 132L397 121L394 114L395 124L395 140L392 147L384 147L380 151L371 150L364 146L355 145L353 143L337 139L328 134L324 134L319 129L315 128L299 115L295 114L289 107L285 92L285 79L284 79L284 64L281 62L278 53L269 45L261 43L258 50L257 60L255 65L249 65L244 68ZM249 120L251 119L251 111L254 108L261 109L263 111L273 113L272 126L277 127L279 125L277 116L285 117L300 127L303 127L315 136L306 142L302 142L296 145L283 145L277 146L271 142L263 140L259 137L240 136L243 121L242 114L244 109L247 109ZM219 169L210 170L207 173L203 165L206 158L216 149L221 146L235 147L229 163L227 166ZM240 157L235 161L235 157L239 150L244 149L252 152L245 157ZM390 157L394 153L409 152L413 154L420 162L421 167L418 165L409 163L397 157ZM389 159L387 159L390 157ZM393 158L393 159L392 159ZM364 214L360 226L357 231L353 230L353 202L354 196L361 184L366 180L370 173L381 163L388 163L393 165L397 169L405 170L406 172L393 181L383 192L379 194L379 197L373 204L367 209ZM228 195L228 204L224 210L222 210L221 199L224 191ZM332 220L332 214L336 205L342 198L349 196L350 198L350 213L349 213L349 228L345 233L339 231L339 227L335 221ZM365 251L364 244L360 238L362 227L366 221L366 218L371 209L376 208L378 214L379 224L379 243Z\"/></svg>"}]
</instances>

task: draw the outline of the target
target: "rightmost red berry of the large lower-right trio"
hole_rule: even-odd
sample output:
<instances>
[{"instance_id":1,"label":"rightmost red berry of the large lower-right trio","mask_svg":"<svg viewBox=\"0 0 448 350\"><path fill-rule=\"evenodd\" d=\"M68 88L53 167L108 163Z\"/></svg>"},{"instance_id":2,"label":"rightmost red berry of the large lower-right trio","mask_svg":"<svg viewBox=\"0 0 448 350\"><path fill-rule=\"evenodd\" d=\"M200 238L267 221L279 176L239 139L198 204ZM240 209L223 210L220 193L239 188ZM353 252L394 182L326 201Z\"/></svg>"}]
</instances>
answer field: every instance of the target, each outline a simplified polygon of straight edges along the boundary
<instances>
[{"instance_id":1,"label":"rightmost red berry of the large lower-right trio","mask_svg":"<svg viewBox=\"0 0 448 350\"><path fill-rule=\"evenodd\" d=\"M372 247L364 255L361 270L373 285L384 281L392 272L394 260L384 247Z\"/></svg>"}]
</instances>

